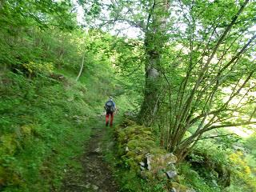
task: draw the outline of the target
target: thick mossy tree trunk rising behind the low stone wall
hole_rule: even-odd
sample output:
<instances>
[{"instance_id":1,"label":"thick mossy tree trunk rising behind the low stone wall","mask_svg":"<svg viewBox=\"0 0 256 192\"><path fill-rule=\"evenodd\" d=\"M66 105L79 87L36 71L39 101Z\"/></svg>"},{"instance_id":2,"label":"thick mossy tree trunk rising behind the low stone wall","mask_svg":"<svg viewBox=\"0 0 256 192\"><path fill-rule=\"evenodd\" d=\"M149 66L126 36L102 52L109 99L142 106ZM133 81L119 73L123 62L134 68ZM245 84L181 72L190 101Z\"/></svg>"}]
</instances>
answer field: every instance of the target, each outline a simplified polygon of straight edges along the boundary
<instances>
[{"instance_id":1,"label":"thick mossy tree trunk rising behind the low stone wall","mask_svg":"<svg viewBox=\"0 0 256 192\"><path fill-rule=\"evenodd\" d=\"M159 110L159 101L162 92L161 53L166 42L166 18L169 4L167 0L156 0L149 14L146 26L144 49L146 54L145 90L139 122L146 126L154 123ZM151 20L151 22L150 22Z\"/></svg>"}]
</instances>

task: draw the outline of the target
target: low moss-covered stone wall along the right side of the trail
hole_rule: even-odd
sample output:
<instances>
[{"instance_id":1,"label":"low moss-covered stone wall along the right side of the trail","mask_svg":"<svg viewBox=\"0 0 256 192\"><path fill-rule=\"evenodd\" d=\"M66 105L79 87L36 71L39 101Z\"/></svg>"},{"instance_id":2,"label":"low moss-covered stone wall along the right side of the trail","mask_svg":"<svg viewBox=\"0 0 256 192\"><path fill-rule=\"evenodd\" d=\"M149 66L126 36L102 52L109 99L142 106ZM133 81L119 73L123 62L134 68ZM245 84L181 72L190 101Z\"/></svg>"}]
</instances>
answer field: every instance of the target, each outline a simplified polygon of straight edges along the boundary
<instances>
[{"instance_id":1,"label":"low moss-covered stone wall along the right side of the trail","mask_svg":"<svg viewBox=\"0 0 256 192\"><path fill-rule=\"evenodd\" d=\"M164 186L164 191L192 191L178 184L178 173L174 166L177 157L158 146L149 127L139 126L126 118L116 127L115 135L118 154L130 171L150 183Z\"/></svg>"}]
</instances>

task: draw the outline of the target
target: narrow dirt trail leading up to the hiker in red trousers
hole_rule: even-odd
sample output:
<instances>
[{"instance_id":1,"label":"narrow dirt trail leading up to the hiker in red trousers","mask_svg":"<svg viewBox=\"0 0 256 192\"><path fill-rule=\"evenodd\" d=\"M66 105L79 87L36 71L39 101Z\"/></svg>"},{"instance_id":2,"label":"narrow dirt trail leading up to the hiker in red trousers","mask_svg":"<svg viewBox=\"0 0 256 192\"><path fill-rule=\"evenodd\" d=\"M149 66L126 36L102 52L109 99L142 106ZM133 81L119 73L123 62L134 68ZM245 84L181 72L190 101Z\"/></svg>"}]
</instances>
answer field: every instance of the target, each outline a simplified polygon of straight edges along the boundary
<instances>
[{"instance_id":1,"label":"narrow dirt trail leading up to the hiker in red trousers","mask_svg":"<svg viewBox=\"0 0 256 192\"><path fill-rule=\"evenodd\" d=\"M103 138L106 129L110 129L110 127L92 129L90 140L86 142L85 154L81 159L82 174L68 174L62 186L62 191L118 192L118 186L114 182L112 173L102 156Z\"/></svg>"}]
</instances>

